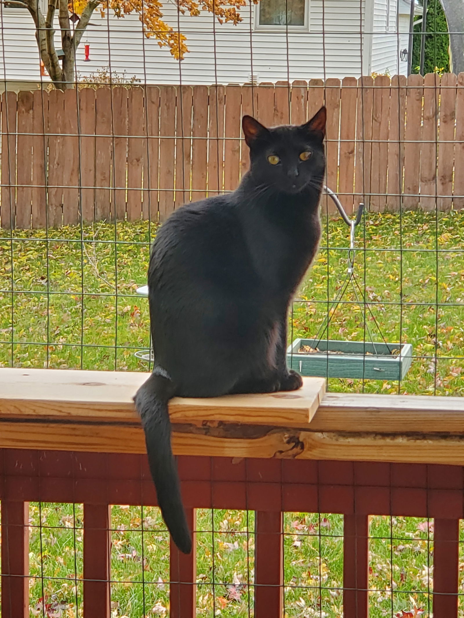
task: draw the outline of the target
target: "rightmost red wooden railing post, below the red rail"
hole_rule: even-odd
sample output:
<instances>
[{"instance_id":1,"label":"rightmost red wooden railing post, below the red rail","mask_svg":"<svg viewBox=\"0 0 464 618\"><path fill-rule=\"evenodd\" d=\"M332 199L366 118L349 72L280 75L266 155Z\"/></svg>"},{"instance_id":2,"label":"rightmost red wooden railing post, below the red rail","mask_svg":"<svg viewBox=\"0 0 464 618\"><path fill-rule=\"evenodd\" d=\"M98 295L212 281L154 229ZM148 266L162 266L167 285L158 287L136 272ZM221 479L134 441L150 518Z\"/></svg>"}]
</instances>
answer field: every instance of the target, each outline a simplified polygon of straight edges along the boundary
<instances>
[{"instance_id":1,"label":"rightmost red wooden railing post, below the red rail","mask_svg":"<svg viewBox=\"0 0 464 618\"><path fill-rule=\"evenodd\" d=\"M459 520L434 520L434 618L457 618Z\"/></svg>"}]
</instances>

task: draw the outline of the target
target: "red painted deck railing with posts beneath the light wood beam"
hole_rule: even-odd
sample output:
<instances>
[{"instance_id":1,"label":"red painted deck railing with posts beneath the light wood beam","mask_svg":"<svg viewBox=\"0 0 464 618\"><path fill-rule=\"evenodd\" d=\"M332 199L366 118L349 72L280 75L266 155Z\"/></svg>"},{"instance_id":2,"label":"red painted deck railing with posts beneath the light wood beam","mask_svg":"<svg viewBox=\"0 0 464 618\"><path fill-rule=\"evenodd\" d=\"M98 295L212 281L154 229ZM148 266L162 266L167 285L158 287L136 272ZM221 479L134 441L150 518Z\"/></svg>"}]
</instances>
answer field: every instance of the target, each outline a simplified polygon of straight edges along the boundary
<instances>
[{"instance_id":1,"label":"red painted deck railing with posts beneath the light wood beam","mask_svg":"<svg viewBox=\"0 0 464 618\"><path fill-rule=\"evenodd\" d=\"M110 505L156 504L144 455L3 449L2 618L29 616L28 501L84 504L84 617L110 618ZM256 511L254 616L283 616L283 523L291 512L344 515L343 617L367 618L369 515L434 519L434 618L458 617L463 468L312 460L179 457L195 508ZM170 618L195 616L195 553L171 544Z\"/></svg>"}]
</instances>

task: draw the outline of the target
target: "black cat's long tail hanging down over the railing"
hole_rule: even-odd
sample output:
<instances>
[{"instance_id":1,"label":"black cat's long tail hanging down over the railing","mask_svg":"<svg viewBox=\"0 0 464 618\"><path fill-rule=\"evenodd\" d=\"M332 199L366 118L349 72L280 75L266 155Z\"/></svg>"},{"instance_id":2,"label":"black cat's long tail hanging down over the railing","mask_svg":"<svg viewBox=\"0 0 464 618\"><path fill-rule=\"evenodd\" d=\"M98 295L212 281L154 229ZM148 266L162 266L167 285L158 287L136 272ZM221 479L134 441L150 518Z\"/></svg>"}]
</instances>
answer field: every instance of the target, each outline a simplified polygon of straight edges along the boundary
<instances>
[{"instance_id":1,"label":"black cat's long tail hanging down over the railing","mask_svg":"<svg viewBox=\"0 0 464 618\"><path fill-rule=\"evenodd\" d=\"M187 527L176 461L171 449L171 422L168 401L174 386L168 374L155 367L134 401L145 431L148 464L157 488L161 514L178 548L189 554L192 538Z\"/></svg>"}]
</instances>

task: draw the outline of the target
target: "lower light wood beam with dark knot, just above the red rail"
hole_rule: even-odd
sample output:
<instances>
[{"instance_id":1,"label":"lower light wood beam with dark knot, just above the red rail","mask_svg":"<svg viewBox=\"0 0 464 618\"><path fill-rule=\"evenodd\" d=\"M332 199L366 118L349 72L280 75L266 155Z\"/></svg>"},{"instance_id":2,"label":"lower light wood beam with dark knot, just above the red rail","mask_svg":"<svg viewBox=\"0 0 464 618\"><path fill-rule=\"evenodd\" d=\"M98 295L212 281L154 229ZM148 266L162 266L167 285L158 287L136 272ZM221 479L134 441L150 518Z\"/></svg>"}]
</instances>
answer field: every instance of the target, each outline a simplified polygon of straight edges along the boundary
<instances>
[{"instance_id":1,"label":"lower light wood beam with dark knot, just above the red rail","mask_svg":"<svg viewBox=\"0 0 464 618\"><path fill-rule=\"evenodd\" d=\"M1 448L145 452L144 434L142 429L135 425L121 427L48 422L30 423L25 431L22 423L2 421L1 429ZM234 426L233 430L227 426L212 427L205 424L201 428L194 425L174 425L174 454L464 465L462 435L395 436L247 426L246 437L238 437L238 431L243 431L243 428Z\"/></svg>"}]
</instances>

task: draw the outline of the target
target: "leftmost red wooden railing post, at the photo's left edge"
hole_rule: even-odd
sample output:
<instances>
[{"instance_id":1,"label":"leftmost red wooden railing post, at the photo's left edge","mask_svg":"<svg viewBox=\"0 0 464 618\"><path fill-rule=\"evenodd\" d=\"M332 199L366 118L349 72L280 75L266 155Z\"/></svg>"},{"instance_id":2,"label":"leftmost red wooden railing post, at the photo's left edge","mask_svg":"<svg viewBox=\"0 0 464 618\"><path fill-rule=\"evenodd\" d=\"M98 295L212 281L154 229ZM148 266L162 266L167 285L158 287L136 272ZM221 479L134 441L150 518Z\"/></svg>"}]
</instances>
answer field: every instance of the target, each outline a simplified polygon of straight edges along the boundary
<instances>
[{"instance_id":1,"label":"leftmost red wooden railing post, at the photo's left edge","mask_svg":"<svg viewBox=\"0 0 464 618\"><path fill-rule=\"evenodd\" d=\"M29 616L29 504L2 500L2 618Z\"/></svg>"}]
</instances>

